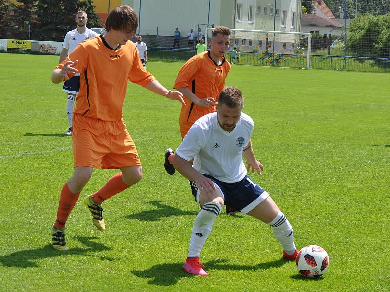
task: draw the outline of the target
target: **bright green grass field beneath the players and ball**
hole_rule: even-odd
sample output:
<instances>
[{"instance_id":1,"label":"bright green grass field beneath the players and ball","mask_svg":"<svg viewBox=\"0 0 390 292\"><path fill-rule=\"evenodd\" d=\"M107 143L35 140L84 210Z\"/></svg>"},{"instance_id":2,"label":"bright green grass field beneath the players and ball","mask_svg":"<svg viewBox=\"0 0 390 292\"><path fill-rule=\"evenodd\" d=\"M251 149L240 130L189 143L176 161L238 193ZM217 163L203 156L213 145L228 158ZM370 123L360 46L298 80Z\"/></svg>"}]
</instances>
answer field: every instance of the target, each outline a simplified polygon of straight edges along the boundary
<instances>
[{"instance_id":1,"label":"bright green grass field beneath the players and ball","mask_svg":"<svg viewBox=\"0 0 390 292\"><path fill-rule=\"evenodd\" d=\"M103 205L99 232L82 199L114 173L95 170L67 223L68 252L50 246L59 192L73 168L58 56L0 54L0 291L389 291L389 74L233 66L265 170L252 175L291 222L298 248L330 256L301 277L269 226L222 214L201 254L209 277L181 270L199 208L163 168L180 105L129 84L124 119L144 178ZM171 88L182 63L150 62Z\"/></svg>"}]
</instances>

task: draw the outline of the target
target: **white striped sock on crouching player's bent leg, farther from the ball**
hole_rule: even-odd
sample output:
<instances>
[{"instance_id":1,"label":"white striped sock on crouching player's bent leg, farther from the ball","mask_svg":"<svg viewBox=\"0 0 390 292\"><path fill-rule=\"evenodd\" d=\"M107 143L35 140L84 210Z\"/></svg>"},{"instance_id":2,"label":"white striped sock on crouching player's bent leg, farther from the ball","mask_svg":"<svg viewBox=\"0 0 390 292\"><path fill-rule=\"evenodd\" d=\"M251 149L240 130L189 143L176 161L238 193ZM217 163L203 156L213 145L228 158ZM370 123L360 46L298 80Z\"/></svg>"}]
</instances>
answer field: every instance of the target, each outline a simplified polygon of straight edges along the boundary
<instances>
[{"instance_id":1,"label":"white striped sock on crouching player's bent leg, farther from the ball","mask_svg":"<svg viewBox=\"0 0 390 292\"><path fill-rule=\"evenodd\" d=\"M221 210L222 206L217 202L209 202L203 205L202 210L199 211L194 221L188 257L200 256L200 250L207 237L209 237L214 221L218 214L221 213Z\"/></svg>"}]
</instances>

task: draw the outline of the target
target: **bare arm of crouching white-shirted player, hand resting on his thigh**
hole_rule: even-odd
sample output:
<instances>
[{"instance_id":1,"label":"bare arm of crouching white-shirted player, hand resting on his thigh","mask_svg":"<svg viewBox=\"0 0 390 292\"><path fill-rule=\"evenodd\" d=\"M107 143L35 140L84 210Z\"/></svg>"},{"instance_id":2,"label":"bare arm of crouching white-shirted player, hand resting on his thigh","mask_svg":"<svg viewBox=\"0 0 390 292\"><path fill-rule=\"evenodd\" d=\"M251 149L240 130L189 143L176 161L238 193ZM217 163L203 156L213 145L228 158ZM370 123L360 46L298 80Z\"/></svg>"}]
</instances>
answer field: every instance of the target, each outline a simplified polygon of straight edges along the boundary
<instances>
[{"instance_id":1,"label":"bare arm of crouching white-shirted player, hand resting on his thigh","mask_svg":"<svg viewBox=\"0 0 390 292\"><path fill-rule=\"evenodd\" d=\"M175 154L173 165L182 176L193 181L200 188L201 192L211 195L216 191L215 185L209 178L192 167L191 162L184 160L177 153Z\"/></svg>"}]
</instances>

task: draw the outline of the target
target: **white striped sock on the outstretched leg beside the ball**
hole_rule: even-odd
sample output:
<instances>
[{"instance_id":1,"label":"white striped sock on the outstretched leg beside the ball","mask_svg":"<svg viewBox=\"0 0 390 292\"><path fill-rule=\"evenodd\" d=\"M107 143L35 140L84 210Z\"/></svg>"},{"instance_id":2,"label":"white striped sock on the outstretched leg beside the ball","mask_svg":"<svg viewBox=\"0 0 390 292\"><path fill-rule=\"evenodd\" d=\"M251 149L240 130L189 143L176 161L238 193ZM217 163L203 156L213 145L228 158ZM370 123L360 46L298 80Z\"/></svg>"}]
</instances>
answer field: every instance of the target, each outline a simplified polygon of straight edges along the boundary
<instances>
[{"instance_id":1,"label":"white striped sock on the outstretched leg beside the ball","mask_svg":"<svg viewBox=\"0 0 390 292\"><path fill-rule=\"evenodd\" d=\"M294 232L287 218L282 211L279 211L275 219L273 219L268 225L271 226L273 235L282 245L283 250L292 255L296 249L294 244Z\"/></svg>"}]
</instances>

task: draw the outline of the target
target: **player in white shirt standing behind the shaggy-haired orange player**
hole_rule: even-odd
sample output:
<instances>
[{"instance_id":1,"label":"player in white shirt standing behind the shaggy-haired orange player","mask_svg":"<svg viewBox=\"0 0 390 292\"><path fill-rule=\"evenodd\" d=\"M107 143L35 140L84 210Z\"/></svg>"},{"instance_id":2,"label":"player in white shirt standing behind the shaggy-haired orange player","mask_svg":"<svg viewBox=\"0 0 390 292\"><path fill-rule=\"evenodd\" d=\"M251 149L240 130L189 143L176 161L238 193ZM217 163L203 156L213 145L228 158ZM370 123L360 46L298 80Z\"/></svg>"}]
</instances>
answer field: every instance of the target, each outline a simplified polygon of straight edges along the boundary
<instances>
[{"instance_id":1,"label":"player in white shirt standing behind the shaggy-haired orange player","mask_svg":"<svg viewBox=\"0 0 390 292\"><path fill-rule=\"evenodd\" d=\"M79 10L76 13L76 24L77 28L66 33L65 39L62 45L62 52L59 56L59 63L61 63L65 58L73 52L73 50L78 46L79 43L84 40L97 37L98 34L94 31L87 28L85 25L88 22L87 14L83 10ZM73 107L76 100L76 95L80 89L80 73L75 74L69 80L66 80L62 91L68 94L68 99L66 101L66 114L68 116L69 129L65 133L67 136L72 135L72 117L73 117Z\"/></svg>"}]
</instances>

